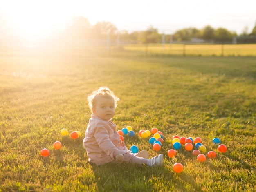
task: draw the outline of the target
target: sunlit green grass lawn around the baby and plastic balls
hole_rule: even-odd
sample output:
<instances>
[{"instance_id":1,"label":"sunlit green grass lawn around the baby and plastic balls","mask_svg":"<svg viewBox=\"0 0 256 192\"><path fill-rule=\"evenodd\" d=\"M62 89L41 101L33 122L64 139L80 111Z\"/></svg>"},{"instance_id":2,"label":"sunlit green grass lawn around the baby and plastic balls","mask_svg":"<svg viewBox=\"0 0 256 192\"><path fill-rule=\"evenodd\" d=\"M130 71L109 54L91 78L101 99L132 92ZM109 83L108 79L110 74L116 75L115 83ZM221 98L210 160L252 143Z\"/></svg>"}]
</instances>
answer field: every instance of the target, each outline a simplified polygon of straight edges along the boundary
<instances>
[{"instance_id":1,"label":"sunlit green grass lawn around the baby and plastic balls","mask_svg":"<svg viewBox=\"0 0 256 192\"><path fill-rule=\"evenodd\" d=\"M121 99L118 129L135 130L127 147L163 153L163 167L88 163L86 97L102 85ZM153 127L164 133L159 152L138 136ZM254 57L0 57L0 191L256 191L255 133ZM169 158L174 135L202 138L216 159L200 163L184 146Z\"/></svg>"}]
</instances>

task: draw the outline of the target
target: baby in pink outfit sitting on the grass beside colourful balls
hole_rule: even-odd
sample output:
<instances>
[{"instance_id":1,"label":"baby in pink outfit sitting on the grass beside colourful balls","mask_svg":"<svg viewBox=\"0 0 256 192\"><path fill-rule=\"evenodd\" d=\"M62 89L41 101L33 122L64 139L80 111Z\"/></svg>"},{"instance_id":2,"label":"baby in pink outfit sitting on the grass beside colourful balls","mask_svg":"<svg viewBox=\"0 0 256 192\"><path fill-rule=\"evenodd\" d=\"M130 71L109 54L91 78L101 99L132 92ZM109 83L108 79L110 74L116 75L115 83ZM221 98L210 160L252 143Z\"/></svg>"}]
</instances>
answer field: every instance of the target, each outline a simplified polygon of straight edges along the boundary
<instances>
[{"instance_id":1,"label":"baby in pink outfit sitting on the grass beside colourful balls","mask_svg":"<svg viewBox=\"0 0 256 192\"><path fill-rule=\"evenodd\" d=\"M120 139L111 119L115 115L115 107L119 98L108 87L100 87L88 98L92 115L89 120L83 146L89 161L96 165L106 163L133 163L138 165L162 166L163 154L148 159L148 152L131 153Z\"/></svg>"}]
</instances>

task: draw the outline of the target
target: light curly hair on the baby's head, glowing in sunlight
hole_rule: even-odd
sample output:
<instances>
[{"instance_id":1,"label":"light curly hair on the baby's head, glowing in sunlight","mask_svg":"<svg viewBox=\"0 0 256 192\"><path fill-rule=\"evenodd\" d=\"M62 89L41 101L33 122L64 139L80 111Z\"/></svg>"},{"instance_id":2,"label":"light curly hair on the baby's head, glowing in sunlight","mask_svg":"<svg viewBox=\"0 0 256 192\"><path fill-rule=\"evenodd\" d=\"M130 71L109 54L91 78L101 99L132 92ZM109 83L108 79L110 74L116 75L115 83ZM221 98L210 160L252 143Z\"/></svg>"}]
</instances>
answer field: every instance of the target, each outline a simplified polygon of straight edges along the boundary
<instances>
[{"instance_id":1,"label":"light curly hair on the baby's head, glowing in sunlight","mask_svg":"<svg viewBox=\"0 0 256 192\"><path fill-rule=\"evenodd\" d=\"M114 92L112 92L108 87L99 87L99 89L93 91L91 94L88 95L87 100L88 100L88 105L89 108L92 111L92 108L95 108L95 103L97 100L97 96L104 96L106 98L113 98L114 102L115 102L115 107L117 107L117 101L119 101L120 99L115 96Z\"/></svg>"}]
</instances>

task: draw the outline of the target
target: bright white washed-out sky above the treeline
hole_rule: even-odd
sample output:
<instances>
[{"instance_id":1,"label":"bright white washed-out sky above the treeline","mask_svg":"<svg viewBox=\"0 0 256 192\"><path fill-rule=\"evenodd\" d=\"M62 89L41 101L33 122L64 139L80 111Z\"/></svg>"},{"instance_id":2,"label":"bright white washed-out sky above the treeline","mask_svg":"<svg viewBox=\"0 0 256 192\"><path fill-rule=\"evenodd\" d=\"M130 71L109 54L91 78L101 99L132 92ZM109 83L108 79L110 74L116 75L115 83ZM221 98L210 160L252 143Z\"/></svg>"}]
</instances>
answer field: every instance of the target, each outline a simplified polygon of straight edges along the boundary
<instances>
[{"instance_id":1,"label":"bright white washed-out sky above the treeline","mask_svg":"<svg viewBox=\"0 0 256 192\"><path fill-rule=\"evenodd\" d=\"M256 0L0 0L0 16L29 36L61 28L73 16L83 16L91 25L112 22L127 31L153 26L167 34L211 25L240 34L256 25Z\"/></svg>"}]
</instances>

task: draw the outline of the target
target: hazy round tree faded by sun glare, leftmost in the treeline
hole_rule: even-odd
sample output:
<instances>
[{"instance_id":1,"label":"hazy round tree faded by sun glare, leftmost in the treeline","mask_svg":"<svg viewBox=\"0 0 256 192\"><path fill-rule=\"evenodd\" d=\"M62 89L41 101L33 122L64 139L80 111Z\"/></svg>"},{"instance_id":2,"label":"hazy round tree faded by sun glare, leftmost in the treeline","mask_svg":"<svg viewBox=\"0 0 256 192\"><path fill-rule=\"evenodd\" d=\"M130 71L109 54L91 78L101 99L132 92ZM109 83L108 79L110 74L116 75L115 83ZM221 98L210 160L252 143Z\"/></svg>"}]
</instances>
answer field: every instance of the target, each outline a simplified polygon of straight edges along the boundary
<instances>
[{"instance_id":1,"label":"hazy round tree faded by sun glare, leftmost in the treeline","mask_svg":"<svg viewBox=\"0 0 256 192\"><path fill-rule=\"evenodd\" d=\"M90 35L91 25L87 18L73 17L67 22L66 34L70 38L83 39Z\"/></svg>"}]
</instances>

